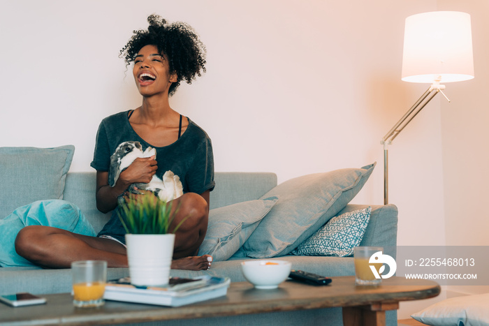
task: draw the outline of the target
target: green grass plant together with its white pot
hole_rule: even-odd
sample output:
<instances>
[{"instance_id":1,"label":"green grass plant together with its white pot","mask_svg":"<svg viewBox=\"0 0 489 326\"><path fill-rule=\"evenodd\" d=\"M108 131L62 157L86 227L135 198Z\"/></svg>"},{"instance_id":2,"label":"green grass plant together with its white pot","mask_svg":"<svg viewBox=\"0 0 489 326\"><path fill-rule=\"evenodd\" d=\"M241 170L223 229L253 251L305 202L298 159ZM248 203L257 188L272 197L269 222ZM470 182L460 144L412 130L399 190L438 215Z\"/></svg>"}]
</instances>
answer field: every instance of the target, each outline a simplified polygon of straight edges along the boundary
<instances>
[{"instance_id":1,"label":"green grass plant together with its white pot","mask_svg":"<svg viewBox=\"0 0 489 326\"><path fill-rule=\"evenodd\" d=\"M172 202L164 202L152 193L131 195L119 206L119 219L127 232L127 260L133 285L168 284L175 232L184 221L172 228L176 212L177 209L172 212Z\"/></svg>"}]
</instances>

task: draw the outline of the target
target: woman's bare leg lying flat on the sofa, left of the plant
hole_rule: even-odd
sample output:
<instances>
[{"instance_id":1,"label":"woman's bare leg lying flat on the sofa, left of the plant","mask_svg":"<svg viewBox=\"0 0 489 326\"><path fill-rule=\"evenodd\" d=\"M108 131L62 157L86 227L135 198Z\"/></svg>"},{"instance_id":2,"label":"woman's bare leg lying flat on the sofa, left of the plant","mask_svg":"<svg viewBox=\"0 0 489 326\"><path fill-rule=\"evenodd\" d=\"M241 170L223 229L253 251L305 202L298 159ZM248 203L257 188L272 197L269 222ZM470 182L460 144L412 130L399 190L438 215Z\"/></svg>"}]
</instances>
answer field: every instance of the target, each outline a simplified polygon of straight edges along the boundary
<instances>
[{"instance_id":1,"label":"woman's bare leg lying flat on the sofa, left of the plant","mask_svg":"<svg viewBox=\"0 0 489 326\"><path fill-rule=\"evenodd\" d=\"M76 260L106 260L109 267L127 267L126 248L122 244L50 226L22 228L15 239L15 250L41 267L69 268Z\"/></svg>"}]
</instances>

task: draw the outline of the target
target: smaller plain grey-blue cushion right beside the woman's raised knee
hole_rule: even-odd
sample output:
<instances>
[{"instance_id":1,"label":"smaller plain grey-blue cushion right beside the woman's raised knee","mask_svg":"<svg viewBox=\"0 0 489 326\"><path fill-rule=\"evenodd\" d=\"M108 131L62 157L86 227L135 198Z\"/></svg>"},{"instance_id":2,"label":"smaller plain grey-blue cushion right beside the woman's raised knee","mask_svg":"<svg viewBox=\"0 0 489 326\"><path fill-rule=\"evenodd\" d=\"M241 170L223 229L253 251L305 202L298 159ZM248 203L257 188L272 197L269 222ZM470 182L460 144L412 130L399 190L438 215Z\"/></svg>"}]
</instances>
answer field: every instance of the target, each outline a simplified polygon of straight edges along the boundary
<instances>
[{"instance_id":1,"label":"smaller plain grey-blue cushion right beside the woman's raised knee","mask_svg":"<svg viewBox=\"0 0 489 326\"><path fill-rule=\"evenodd\" d=\"M198 255L212 255L214 261L227 260L245 243L277 197L250 200L211 209L207 234Z\"/></svg>"}]
</instances>

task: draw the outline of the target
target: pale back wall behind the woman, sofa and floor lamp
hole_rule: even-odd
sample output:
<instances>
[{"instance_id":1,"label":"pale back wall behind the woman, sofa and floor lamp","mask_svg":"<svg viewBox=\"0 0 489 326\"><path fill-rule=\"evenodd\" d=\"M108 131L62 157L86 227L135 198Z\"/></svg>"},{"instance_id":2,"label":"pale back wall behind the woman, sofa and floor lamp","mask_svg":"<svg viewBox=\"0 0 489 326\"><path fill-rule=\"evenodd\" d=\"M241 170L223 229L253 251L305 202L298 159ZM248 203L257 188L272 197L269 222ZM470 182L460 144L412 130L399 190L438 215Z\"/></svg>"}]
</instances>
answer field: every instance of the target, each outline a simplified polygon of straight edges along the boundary
<instances>
[{"instance_id":1,"label":"pale back wall behind the woman, sofa and floor lamp","mask_svg":"<svg viewBox=\"0 0 489 326\"><path fill-rule=\"evenodd\" d=\"M377 161L353 200L375 205L383 202L379 141L428 88L400 80L404 19L467 8L481 27L476 80L450 85L449 107L432 101L390 149L398 244L445 244L467 207L479 212L472 195L487 197L483 185L472 191L474 179L487 178L484 138L473 141L487 119L479 100L486 1L0 1L0 146L73 144L71 170L92 170L101 119L140 105L119 50L158 13L188 22L207 45L207 73L170 104L209 133L217 171L274 171L284 181ZM470 171L463 156L475 158ZM453 184L466 189L461 200Z\"/></svg>"}]
</instances>

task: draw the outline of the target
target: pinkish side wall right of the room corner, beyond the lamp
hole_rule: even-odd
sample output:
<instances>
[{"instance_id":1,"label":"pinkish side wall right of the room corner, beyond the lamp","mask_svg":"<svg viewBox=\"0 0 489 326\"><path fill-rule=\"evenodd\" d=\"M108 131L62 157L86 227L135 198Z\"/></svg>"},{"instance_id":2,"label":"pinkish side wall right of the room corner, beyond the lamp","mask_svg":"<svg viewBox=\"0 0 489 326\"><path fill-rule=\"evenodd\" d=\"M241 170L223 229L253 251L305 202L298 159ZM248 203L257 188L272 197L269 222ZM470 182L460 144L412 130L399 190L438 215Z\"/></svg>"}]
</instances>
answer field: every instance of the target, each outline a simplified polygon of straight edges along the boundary
<instances>
[{"instance_id":1,"label":"pinkish side wall right of the room corner, beyond the lamp","mask_svg":"<svg viewBox=\"0 0 489 326\"><path fill-rule=\"evenodd\" d=\"M489 1L439 1L440 10L460 10L472 18L475 78L447 84L452 103L441 101L444 162L444 207L446 244L450 246L489 246L489 219L485 202L489 198ZM484 247L480 247L483 250ZM489 292L483 286L451 286L448 291Z\"/></svg>"}]
</instances>

